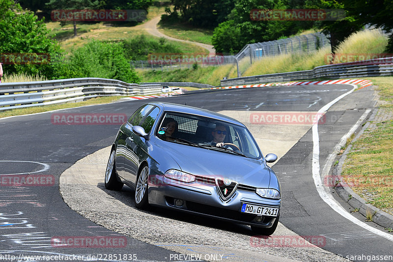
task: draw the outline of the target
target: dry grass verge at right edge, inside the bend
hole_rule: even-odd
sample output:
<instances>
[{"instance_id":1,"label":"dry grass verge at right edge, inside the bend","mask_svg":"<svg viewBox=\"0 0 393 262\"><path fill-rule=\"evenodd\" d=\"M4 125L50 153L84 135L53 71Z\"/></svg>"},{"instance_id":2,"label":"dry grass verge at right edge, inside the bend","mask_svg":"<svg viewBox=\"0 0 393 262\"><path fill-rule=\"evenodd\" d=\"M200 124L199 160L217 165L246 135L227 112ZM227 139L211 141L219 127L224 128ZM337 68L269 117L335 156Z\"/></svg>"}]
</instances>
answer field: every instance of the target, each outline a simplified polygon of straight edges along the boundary
<instances>
[{"instance_id":1,"label":"dry grass verge at right edge, inside the bend","mask_svg":"<svg viewBox=\"0 0 393 262\"><path fill-rule=\"evenodd\" d=\"M352 142L342 175L367 203L393 215L393 77L367 78L378 86L379 109L365 132Z\"/></svg>"}]
</instances>

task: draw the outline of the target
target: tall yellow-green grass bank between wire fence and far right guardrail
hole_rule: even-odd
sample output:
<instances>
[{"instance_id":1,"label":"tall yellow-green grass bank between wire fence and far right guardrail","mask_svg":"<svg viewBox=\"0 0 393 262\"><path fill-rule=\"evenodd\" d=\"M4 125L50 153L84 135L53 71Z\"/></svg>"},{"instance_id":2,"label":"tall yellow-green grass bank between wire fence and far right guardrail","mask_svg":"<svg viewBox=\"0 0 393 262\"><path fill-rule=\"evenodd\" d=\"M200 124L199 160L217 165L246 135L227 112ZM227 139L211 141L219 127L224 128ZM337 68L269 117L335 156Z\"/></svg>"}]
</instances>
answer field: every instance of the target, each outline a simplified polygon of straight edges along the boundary
<instances>
[{"instance_id":1,"label":"tall yellow-green grass bank between wire fence and far right guardrail","mask_svg":"<svg viewBox=\"0 0 393 262\"><path fill-rule=\"evenodd\" d=\"M378 30L364 30L351 35L337 49L340 54L378 54L384 52L387 45L387 36ZM330 46L322 48L312 53L295 53L283 54L275 57L267 57L259 60L253 60L250 64L249 58L244 58L239 62L239 70L241 76L254 76L263 74L274 74L282 72L293 72L301 70L311 70L314 67L326 65L328 56L331 54ZM338 61L337 61L338 62ZM179 81L192 81L198 83L206 83L211 85L219 85L219 80L223 77L237 77L236 64L225 65L225 68L211 67L209 76L215 82L206 83L207 77L199 74L197 70L196 77L194 74L180 73L177 71L168 71L165 76L156 76L154 73L143 72L142 78L145 82L160 81L157 79L175 79L180 77ZM185 69L187 70L187 69Z\"/></svg>"}]
</instances>

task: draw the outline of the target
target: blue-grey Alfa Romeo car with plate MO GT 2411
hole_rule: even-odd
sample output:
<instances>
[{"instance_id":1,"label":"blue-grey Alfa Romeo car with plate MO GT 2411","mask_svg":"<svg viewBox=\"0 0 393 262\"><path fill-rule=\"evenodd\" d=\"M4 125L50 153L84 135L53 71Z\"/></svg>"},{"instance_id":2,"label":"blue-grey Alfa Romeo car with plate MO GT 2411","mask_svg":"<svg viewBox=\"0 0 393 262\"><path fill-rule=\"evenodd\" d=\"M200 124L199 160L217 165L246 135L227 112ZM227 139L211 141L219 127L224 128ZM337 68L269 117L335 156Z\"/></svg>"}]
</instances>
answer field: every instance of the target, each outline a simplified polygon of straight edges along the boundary
<instances>
[{"instance_id":1,"label":"blue-grey Alfa Romeo car with plate MO GT 2411","mask_svg":"<svg viewBox=\"0 0 393 262\"><path fill-rule=\"evenodd\" d=\"M165 207L274 233L281 188L246 126L211 111L148 103L124 122L112 145L105 186L135 189L137 208Z\"/></svg>"}]
</instances>

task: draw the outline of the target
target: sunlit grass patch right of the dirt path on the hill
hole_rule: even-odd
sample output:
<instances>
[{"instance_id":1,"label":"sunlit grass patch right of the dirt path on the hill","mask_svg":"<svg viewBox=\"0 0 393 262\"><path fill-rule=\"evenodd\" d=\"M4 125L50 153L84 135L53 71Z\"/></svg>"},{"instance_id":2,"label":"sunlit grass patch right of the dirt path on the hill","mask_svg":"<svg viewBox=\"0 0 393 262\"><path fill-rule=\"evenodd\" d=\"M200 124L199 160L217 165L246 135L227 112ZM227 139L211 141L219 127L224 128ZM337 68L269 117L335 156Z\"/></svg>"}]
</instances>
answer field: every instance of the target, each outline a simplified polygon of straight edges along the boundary
<instances>
[{"instance_id":1,"label":"sunlit grass patch right of the dirt path on the hill","mask_svg":"<svg viewBox=\"0 0 393 262\"><path fill-rule=\"evenodd\" d=\"M202 44L212 44L212 36L213 30L212 29L201 29L191 27L186 24L163 24L160 23L158 29L173 38L178 38L182 40L188 40L192 42L198 42Z\"/></svg>"}]
</instances>

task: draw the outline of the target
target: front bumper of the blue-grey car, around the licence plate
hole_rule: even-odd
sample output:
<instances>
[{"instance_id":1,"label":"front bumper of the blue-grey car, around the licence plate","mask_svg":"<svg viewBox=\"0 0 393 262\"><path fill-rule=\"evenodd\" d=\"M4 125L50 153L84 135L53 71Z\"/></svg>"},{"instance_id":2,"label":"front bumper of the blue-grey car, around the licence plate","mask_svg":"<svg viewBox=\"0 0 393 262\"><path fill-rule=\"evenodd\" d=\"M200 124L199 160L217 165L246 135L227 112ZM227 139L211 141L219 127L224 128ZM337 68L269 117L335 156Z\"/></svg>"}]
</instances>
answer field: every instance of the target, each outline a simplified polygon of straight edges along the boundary
<instances>
[{"instance_id":1,"label":"front bumper of the blue-grey car, around the licence plate","mask_svg":"<svg viewBox=\"0 0 393 262\"><path fill-rule=\"evenodd\" d=\"M257 222L257 215L240 212L242 204L281 207L281 200L264 199L255 192L239 188L223 201L215 185L198 181L185 183L164 175L150 175L148 198L151 205L261 228L270 228L276 217L262 216ZM176 205L176 200L182 200L183 204Z\"/></svg>"}]
</instances>

